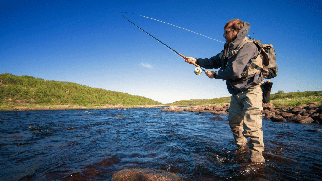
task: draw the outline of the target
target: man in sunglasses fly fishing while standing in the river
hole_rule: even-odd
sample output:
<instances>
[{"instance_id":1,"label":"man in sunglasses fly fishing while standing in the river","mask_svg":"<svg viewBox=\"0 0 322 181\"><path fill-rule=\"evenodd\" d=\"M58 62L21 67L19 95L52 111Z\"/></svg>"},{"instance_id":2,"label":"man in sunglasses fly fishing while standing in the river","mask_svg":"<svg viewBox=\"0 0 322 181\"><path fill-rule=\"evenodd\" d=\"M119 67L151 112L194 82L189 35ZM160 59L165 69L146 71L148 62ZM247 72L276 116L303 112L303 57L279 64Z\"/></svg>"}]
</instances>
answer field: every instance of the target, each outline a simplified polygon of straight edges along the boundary
<instances>
[{"instance_id":1,"label":"man in sunglasses fly fishing while standing in the river","mask_svg":"<svg viewBox=\"0 0 322 181\"><path fill-rule=\"evenodd\" d=\"M248 138L250 139L248 147L251 150L248 161L265 162L262 156L264 143L261 130L260 87L264 78L260 70L253 67L255 60L261 61L259 56L261 47L253 42L243 44L248 39L246 35L249 28L250 24L241 20L227 22L223 34L226 43L222 52L209 59L186 57L185 61L196 63L206 69L220 68L216 72L206 71L206 75L209 78L226 80L228 91L232 94L228 120L237 149L246 146ZM233 51L236 48L240 49L237 52Z\"/></svg>"}]
</instances>

